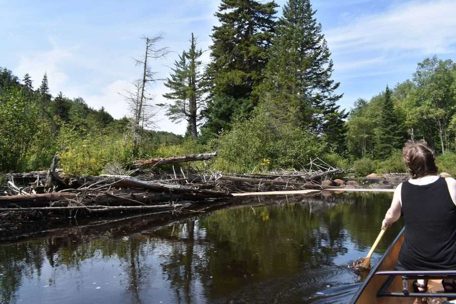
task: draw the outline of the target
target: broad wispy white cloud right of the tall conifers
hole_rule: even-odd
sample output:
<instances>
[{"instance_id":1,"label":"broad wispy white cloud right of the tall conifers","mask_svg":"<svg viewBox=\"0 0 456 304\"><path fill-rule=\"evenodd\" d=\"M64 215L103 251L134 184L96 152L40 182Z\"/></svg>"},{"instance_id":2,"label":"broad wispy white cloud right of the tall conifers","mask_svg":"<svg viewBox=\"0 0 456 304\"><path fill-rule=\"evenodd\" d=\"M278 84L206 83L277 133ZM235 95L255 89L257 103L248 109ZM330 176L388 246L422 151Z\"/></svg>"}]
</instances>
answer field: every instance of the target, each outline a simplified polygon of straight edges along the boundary
<instances>
[{"instance_id":1,"label":"broad wispy white cloud right of the tall conifers","mask_svg":"<svg viewBox=\"0 0 456 304\"><path fill-rule=\"evenodd\" d=\"M456 43L456 2L409 1L326 32L334 53L414 50L445 53Z\"/></svg>"}]
</instances>

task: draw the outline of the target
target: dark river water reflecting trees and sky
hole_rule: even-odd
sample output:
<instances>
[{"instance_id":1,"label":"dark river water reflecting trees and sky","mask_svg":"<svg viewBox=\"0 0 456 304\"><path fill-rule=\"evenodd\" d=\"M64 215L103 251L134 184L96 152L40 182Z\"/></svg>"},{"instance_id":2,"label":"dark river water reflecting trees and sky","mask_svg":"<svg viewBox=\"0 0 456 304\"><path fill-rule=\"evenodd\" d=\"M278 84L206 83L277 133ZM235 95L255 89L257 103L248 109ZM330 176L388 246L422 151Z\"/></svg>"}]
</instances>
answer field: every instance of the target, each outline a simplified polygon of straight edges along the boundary
<instances>
[{"instance_id":1,"label":"dark river water reflecting trees and sky","mask_svg":"<svg viewBox=\"0 0 456 304\"><path fill-rule=\"evenodd\" d=\"M144 224L0 246L2 303L344 303L347 265L391 195L254 198L157 229ZM145 220L143 220L146 223ZM133 229L134 226L134 229ZM401 228L386 234L378 261Z\"/></svg>"}]
</instances>

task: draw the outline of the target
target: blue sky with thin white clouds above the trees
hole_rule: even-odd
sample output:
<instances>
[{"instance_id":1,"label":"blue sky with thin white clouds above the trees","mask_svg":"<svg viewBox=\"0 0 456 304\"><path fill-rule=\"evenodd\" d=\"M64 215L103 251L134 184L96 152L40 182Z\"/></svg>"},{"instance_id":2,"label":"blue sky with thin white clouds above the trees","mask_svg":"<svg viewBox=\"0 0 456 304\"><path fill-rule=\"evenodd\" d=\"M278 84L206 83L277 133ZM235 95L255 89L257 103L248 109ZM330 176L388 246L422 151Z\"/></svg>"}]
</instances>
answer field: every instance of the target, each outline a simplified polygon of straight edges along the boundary
<instances>
[{"instance_id":1,"label":"blue sky with thin white clouds above the trees","mask_svg":"<svg viewBox=\"0 0 456 304\"><path fill-rule=\"evenodd\" d=\"M133 58L143 54L143 36L163 35L159 47L172 51L151 62L157 78L168 77L174 61L194 32L207 50L217 24L220 0L21 1L0 0L0 67L20 79L31 75L35 88L48 74L51 94L82 97L114 117L128 115L125 90L141 76ZM281 7L286 0L276 1ZM350 110L358 98L369 99L386 85L411 79L418 62L437 55L456 61L456 0L314 0L316 18L334 61L333 79L344 93L338 104ZM278 17L281 15L278 9ZM209 61L209 52L203 61ZM167 102L163 82L149 92ZM176 134L159 112L157 129Z\"/></svg>"}]
</instances>

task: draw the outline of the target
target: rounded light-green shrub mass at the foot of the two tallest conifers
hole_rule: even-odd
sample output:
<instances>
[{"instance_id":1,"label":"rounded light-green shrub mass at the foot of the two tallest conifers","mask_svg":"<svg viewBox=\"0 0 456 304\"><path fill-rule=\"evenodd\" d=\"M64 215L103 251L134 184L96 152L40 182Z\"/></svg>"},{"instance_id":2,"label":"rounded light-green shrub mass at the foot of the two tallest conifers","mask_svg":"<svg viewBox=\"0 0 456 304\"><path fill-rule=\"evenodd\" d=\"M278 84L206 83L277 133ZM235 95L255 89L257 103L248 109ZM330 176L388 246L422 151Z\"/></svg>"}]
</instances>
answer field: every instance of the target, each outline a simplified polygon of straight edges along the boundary
<instances>
[{"instance_id":1,"label":"rounded light-green shrub mass at the foot of the two tallest conifers","mask_svg":"<svg viewBox=\"0 0 456 304\"><path fill-rule=\"evenodd\" d=\"M322 153L325 144L312 133L273 118L264 108L233 126L212 143L214 168L246 172L271 168L302 168Z\"/></svg>"}]
</instances>

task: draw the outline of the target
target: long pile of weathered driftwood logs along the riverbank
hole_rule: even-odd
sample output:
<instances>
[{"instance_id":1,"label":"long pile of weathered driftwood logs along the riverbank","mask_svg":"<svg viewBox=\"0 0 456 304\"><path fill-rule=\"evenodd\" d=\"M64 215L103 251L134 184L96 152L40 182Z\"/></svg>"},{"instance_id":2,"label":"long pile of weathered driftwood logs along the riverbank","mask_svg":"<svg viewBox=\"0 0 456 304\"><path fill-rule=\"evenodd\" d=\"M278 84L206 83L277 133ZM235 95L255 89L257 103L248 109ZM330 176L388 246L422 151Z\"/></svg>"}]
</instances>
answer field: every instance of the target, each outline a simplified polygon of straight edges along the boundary
<instances>
[{"instance_id":1,"label":"long pile of weathered driftwood logs along the riverbank","mask_svg":"<svg viewBox=\"0 0 456 304\"><path fill-rule=\"evenodd\" d=\"M198 204L216 204L229 199L231 193L293 189L322 189L321 181L346 171L313 160L309 169L268 174L226 175L218 172L158 175L162 164L208 160L216 153L188 155L166 159L138 160L136 170L126 175L102 175L62 178L58 158L48 171L8 174L0 196L0 220L5 217L27 219L43 217L92 217L120 213L182 213L198 209ZM145 169L152 166L152 170ZM22 186L19 186L21 184Z\"/></svg>"}]
</instances>

